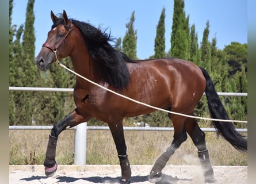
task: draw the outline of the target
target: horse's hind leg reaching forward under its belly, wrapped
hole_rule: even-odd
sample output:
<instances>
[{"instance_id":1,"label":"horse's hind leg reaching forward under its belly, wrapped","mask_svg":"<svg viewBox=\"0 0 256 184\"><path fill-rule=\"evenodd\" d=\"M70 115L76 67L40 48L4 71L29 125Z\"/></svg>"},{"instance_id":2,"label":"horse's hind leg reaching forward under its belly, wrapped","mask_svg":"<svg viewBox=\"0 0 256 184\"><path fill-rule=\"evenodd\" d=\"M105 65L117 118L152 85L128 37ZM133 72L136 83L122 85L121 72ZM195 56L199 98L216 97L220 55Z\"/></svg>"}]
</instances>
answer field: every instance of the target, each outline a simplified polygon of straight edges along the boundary
<instances>
[{"instance_id":1,"label":"horse's hind leg reaching forward under its belly, wrapped","mask_svg":"<svg viewBox=\"0 0 256 184\"><path fill-rule=\"evenodd\" d=\"M150 175L148 176L148 181L151 183L156 183L161 180L163 167L166 166L167 161L174 154L174 151L177 150L179 146L187 139L185 128L186 117L172 114L171 120L173 121L174 127L174 139L170 147L167 147L166 151L163 152L158 159L156 159L155 164L150 171Z\"/></svg>"}]
</instances>

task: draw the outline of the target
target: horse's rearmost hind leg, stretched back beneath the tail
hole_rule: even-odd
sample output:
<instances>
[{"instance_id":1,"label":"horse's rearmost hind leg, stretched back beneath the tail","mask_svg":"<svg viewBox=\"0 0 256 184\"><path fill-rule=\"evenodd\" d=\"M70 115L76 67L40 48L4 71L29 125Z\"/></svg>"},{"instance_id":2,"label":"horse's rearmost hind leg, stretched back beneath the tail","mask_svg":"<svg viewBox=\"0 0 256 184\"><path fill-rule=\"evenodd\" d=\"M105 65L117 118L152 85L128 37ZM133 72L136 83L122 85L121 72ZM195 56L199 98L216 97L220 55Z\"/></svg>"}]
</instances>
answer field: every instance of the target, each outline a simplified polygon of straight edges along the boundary
<instances>
[{"instance_id":1,"label":"horse's rearmost hind leg, stretched back beneath the tail","mask_svg":"<svg viewBox=\"0 0 256 184\"><path fill-rule=\"evenodd\" d=\"M192 138L194 145L198 150L198 157L201 163L202 171L204 173L205 182L213 183L213 169L209 159L208 150L205 144L205 133L198 127L196 120L188 118L186 121L186 132Z\"/></svg>"}]
</instances>

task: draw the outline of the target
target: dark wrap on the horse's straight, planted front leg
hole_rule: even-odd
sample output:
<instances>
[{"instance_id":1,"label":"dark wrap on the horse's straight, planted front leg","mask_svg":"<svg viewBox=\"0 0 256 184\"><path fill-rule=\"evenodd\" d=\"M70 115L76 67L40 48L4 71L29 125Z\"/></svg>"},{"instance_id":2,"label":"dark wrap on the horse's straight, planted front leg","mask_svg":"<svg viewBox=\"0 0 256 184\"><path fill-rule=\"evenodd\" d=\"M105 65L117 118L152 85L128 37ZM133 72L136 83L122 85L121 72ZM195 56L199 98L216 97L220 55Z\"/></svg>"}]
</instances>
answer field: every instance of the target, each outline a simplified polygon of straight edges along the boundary
<instances>
[{"instance_id":1,"label":"dark wrap on the horse's straight, planted front leg","mask_svg":"<svg viewBox=\"0 0 256 184\"><path fill-rule=\"evenodd\" d=\"M122 174L122 180L126 181L125 183L129 182L129 179L131 178L132 171L129 163L129 159L127 155L119 155L119 162L121 166L121 174Z\"/></svg>"}]
</instances>

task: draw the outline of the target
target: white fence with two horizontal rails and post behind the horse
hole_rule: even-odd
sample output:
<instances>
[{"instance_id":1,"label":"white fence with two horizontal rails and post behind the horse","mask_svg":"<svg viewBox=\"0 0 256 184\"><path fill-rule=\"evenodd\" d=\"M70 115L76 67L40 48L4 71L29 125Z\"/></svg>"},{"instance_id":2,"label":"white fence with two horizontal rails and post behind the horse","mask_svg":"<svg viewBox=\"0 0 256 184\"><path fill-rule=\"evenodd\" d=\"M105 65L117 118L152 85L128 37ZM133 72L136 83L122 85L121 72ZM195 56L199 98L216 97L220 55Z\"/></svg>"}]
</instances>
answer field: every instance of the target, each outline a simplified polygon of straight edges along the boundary
<instances>
[{"instance_id":1,"label":"white fence with two horizontal rails and post behind the horse","mask_svg":"<svg viewBox=\"0 0 256 184\"><path fill-rule=\"evenodd\" d=\"M10 91L51 91L51 92L73 92L72 88L50 88L50 87L9 87ZM222 96L247 97L247 93L217 93ZM52 129L52 126L9 126L10 130L44 130ZM87 126L87 122L77 125L75 129L74 164L86 164L86 136L87 130L109 130L109 127ZM201 128L204 132L215 132L215 128ZM125 131L174 131L173 127L124 127ZM247 129L236 129L238 132L247 132Z\"/></svg>"}]
</instances>

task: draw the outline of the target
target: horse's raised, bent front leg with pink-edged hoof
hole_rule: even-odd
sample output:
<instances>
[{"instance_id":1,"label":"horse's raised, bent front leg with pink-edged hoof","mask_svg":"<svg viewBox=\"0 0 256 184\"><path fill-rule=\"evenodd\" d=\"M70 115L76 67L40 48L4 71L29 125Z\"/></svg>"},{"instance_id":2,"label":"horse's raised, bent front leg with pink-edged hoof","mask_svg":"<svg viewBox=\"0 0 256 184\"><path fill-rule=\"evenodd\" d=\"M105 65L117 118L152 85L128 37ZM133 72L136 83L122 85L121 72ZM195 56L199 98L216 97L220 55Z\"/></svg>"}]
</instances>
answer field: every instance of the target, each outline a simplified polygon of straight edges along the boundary
<instances>
[{"instance_id":1,"label":"horse's raised, bent front leg with pink-edged hoof","mask_svg":"<svg viewBox=\"0 0 256 184\"><path fill-rule=\"evenodd\" d=\"M49 134L49 140L47 145L47 151L44 160L44 167L45 167L45 175L47 177L51 177L55 174L58 164L55 161L56 155L56 145L57 140L60 132L64 131L66 128L74 127L81 122L86 122L90 118L89 116L81 115L77 109L75 109L72 113L66 116L62 121L54 124L54 127Z\"/></svg>"}]
</instances>

